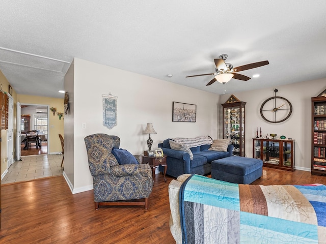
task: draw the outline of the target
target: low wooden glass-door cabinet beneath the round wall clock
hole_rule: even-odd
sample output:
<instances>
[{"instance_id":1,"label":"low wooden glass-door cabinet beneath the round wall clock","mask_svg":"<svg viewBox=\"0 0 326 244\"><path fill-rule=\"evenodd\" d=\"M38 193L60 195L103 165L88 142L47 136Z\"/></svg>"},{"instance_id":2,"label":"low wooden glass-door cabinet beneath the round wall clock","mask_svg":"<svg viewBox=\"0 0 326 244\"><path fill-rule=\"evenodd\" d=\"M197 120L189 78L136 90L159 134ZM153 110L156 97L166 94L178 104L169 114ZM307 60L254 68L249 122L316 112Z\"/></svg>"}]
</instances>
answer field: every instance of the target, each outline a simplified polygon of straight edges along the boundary
<instances>
[{"instance_id":1,"label":"low wooden glass-door cabinet beneath the round wall clock","mask_svg":"<svg viewBox=\"0 0 326 244\"><path fill-rule=\"evenodd\" d=\"M254 158L263 166L294 171L294 140L253 138Z\"/></svg>"}]
</instances>

